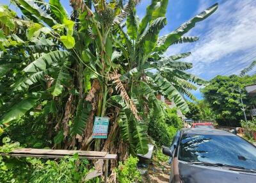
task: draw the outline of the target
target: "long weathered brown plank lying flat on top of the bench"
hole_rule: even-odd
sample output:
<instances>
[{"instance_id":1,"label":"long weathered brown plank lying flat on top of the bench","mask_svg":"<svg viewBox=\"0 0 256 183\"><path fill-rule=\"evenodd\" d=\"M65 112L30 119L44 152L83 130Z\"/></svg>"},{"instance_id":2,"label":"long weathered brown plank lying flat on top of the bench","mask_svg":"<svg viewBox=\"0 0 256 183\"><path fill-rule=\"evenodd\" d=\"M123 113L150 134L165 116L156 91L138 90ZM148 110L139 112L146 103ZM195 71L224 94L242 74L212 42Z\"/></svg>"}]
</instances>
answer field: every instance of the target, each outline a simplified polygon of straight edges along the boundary
<instances>
[{"instance_id":1,"label":"long weathered brown plank lying flat on top of the bench","mask_svg":"<svg viewBox=\"0 0 256 183\"><path fill-rule=\"evenodd\" d=\"M10 154L42 154L42 155L73 155L78 154L79 156L93 156L93 157L104 157L107 152L98 151L83 151L83 150L52 150L52 149L37 149L37 148L20 148L13 150Z\"/></svg>"}]
</instances>

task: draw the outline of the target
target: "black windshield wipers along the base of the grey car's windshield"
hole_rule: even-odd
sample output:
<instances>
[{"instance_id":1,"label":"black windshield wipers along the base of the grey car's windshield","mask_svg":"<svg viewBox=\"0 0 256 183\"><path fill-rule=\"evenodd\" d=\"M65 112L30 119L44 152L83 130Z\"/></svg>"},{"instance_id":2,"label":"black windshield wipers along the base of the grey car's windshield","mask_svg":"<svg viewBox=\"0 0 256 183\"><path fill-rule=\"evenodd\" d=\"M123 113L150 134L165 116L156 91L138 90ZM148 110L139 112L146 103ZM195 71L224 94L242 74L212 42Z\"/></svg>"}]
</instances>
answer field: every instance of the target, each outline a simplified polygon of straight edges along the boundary
<instances>
[{"instance_id":1,"label":"black windshield wipers along the base of the grey car's windshield","mask_svg":"<svg viewBox=\"0 0 256 183\"><path fill-rule=\"evenodd\" d=\"M246 171L246 172L256 173L256 170L250 170L250 169L244 168L243 166L235 166L235 165L230 165L230 164L208 163L208 162L201 162L201 161L191 161L187 164L198 164L198 165L204 165L204 166L221 166L221 167L228 167L228 170Z\"/></svg>"}]
</instances>

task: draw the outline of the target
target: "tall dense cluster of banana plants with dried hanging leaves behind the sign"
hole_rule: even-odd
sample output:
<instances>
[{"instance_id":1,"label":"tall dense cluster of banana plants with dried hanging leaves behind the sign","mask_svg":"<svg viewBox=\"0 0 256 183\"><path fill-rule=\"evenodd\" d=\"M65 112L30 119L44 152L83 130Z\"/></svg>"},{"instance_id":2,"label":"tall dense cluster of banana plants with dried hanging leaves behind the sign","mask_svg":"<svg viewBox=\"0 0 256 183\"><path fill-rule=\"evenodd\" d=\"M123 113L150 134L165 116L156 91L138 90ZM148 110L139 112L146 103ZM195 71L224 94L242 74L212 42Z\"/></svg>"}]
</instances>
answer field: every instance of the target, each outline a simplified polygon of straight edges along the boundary
<instances>
[{"instance_id":1,"label":"tall dense cluster of banana plants with dried hanging leaves behind the sign","mask_svg":"<svg viewBox=\"0 0 256 183\"><path fill-rule=\"evenodd\" d=\"M184 96L195 100L195 84L207 84L186 72L192 64L181 60L190 52L164 53L173 44L196 42L184 34L218 4L159 36L168 0L152 0L142 20L134 0L70 0L70 17L60 0L12 3L21 17L0 6L0 123L40 109L61 147L108 150L120 136L132 154L145 154L148 108L164 118L156 95L186 113ZM92 139L94 116L109 116L109 139Z\"/></svg>"}]
</instances>

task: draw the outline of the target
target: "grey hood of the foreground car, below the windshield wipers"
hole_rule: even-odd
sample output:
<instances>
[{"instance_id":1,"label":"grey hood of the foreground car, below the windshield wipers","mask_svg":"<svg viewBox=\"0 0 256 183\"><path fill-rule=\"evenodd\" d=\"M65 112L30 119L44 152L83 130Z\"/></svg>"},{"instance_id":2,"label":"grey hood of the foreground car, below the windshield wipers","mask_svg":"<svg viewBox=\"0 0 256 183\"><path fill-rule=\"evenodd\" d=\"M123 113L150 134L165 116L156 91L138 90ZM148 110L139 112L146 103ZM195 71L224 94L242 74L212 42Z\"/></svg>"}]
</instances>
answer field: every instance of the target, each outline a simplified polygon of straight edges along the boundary
<instances>
[{"instance_id":1,"label":"grey hood of the foreground car, below the windshield wipers","mask_svg":"<svg viewBox=\"0 0 256 183\"><path fill-rule=\"evenodd\" d=\"M244 173L219 167L185 164L179 162L179 175L184 183L245 183L255 182L256 173Z\"/></svg>"}]
</instances>

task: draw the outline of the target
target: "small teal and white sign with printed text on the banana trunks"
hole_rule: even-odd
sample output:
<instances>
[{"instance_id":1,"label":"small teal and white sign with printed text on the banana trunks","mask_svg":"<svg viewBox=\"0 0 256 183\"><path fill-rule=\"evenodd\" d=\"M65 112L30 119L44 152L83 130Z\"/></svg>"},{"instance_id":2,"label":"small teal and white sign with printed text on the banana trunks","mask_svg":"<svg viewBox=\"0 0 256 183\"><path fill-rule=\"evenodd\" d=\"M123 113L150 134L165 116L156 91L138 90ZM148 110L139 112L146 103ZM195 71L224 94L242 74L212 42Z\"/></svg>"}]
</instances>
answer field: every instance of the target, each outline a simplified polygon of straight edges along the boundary
<instances>
[{"instance_id":1,"label":"small teal and white sign with printed text on the banana trunks","mask_svg":"<svg viewBox=\"0 0 256 183\"><path fill-rule=\"evenodd\" d=\"M108 117L95 117L92 138L107 138L108 124Z\"/></svg>"}]
</instances>

